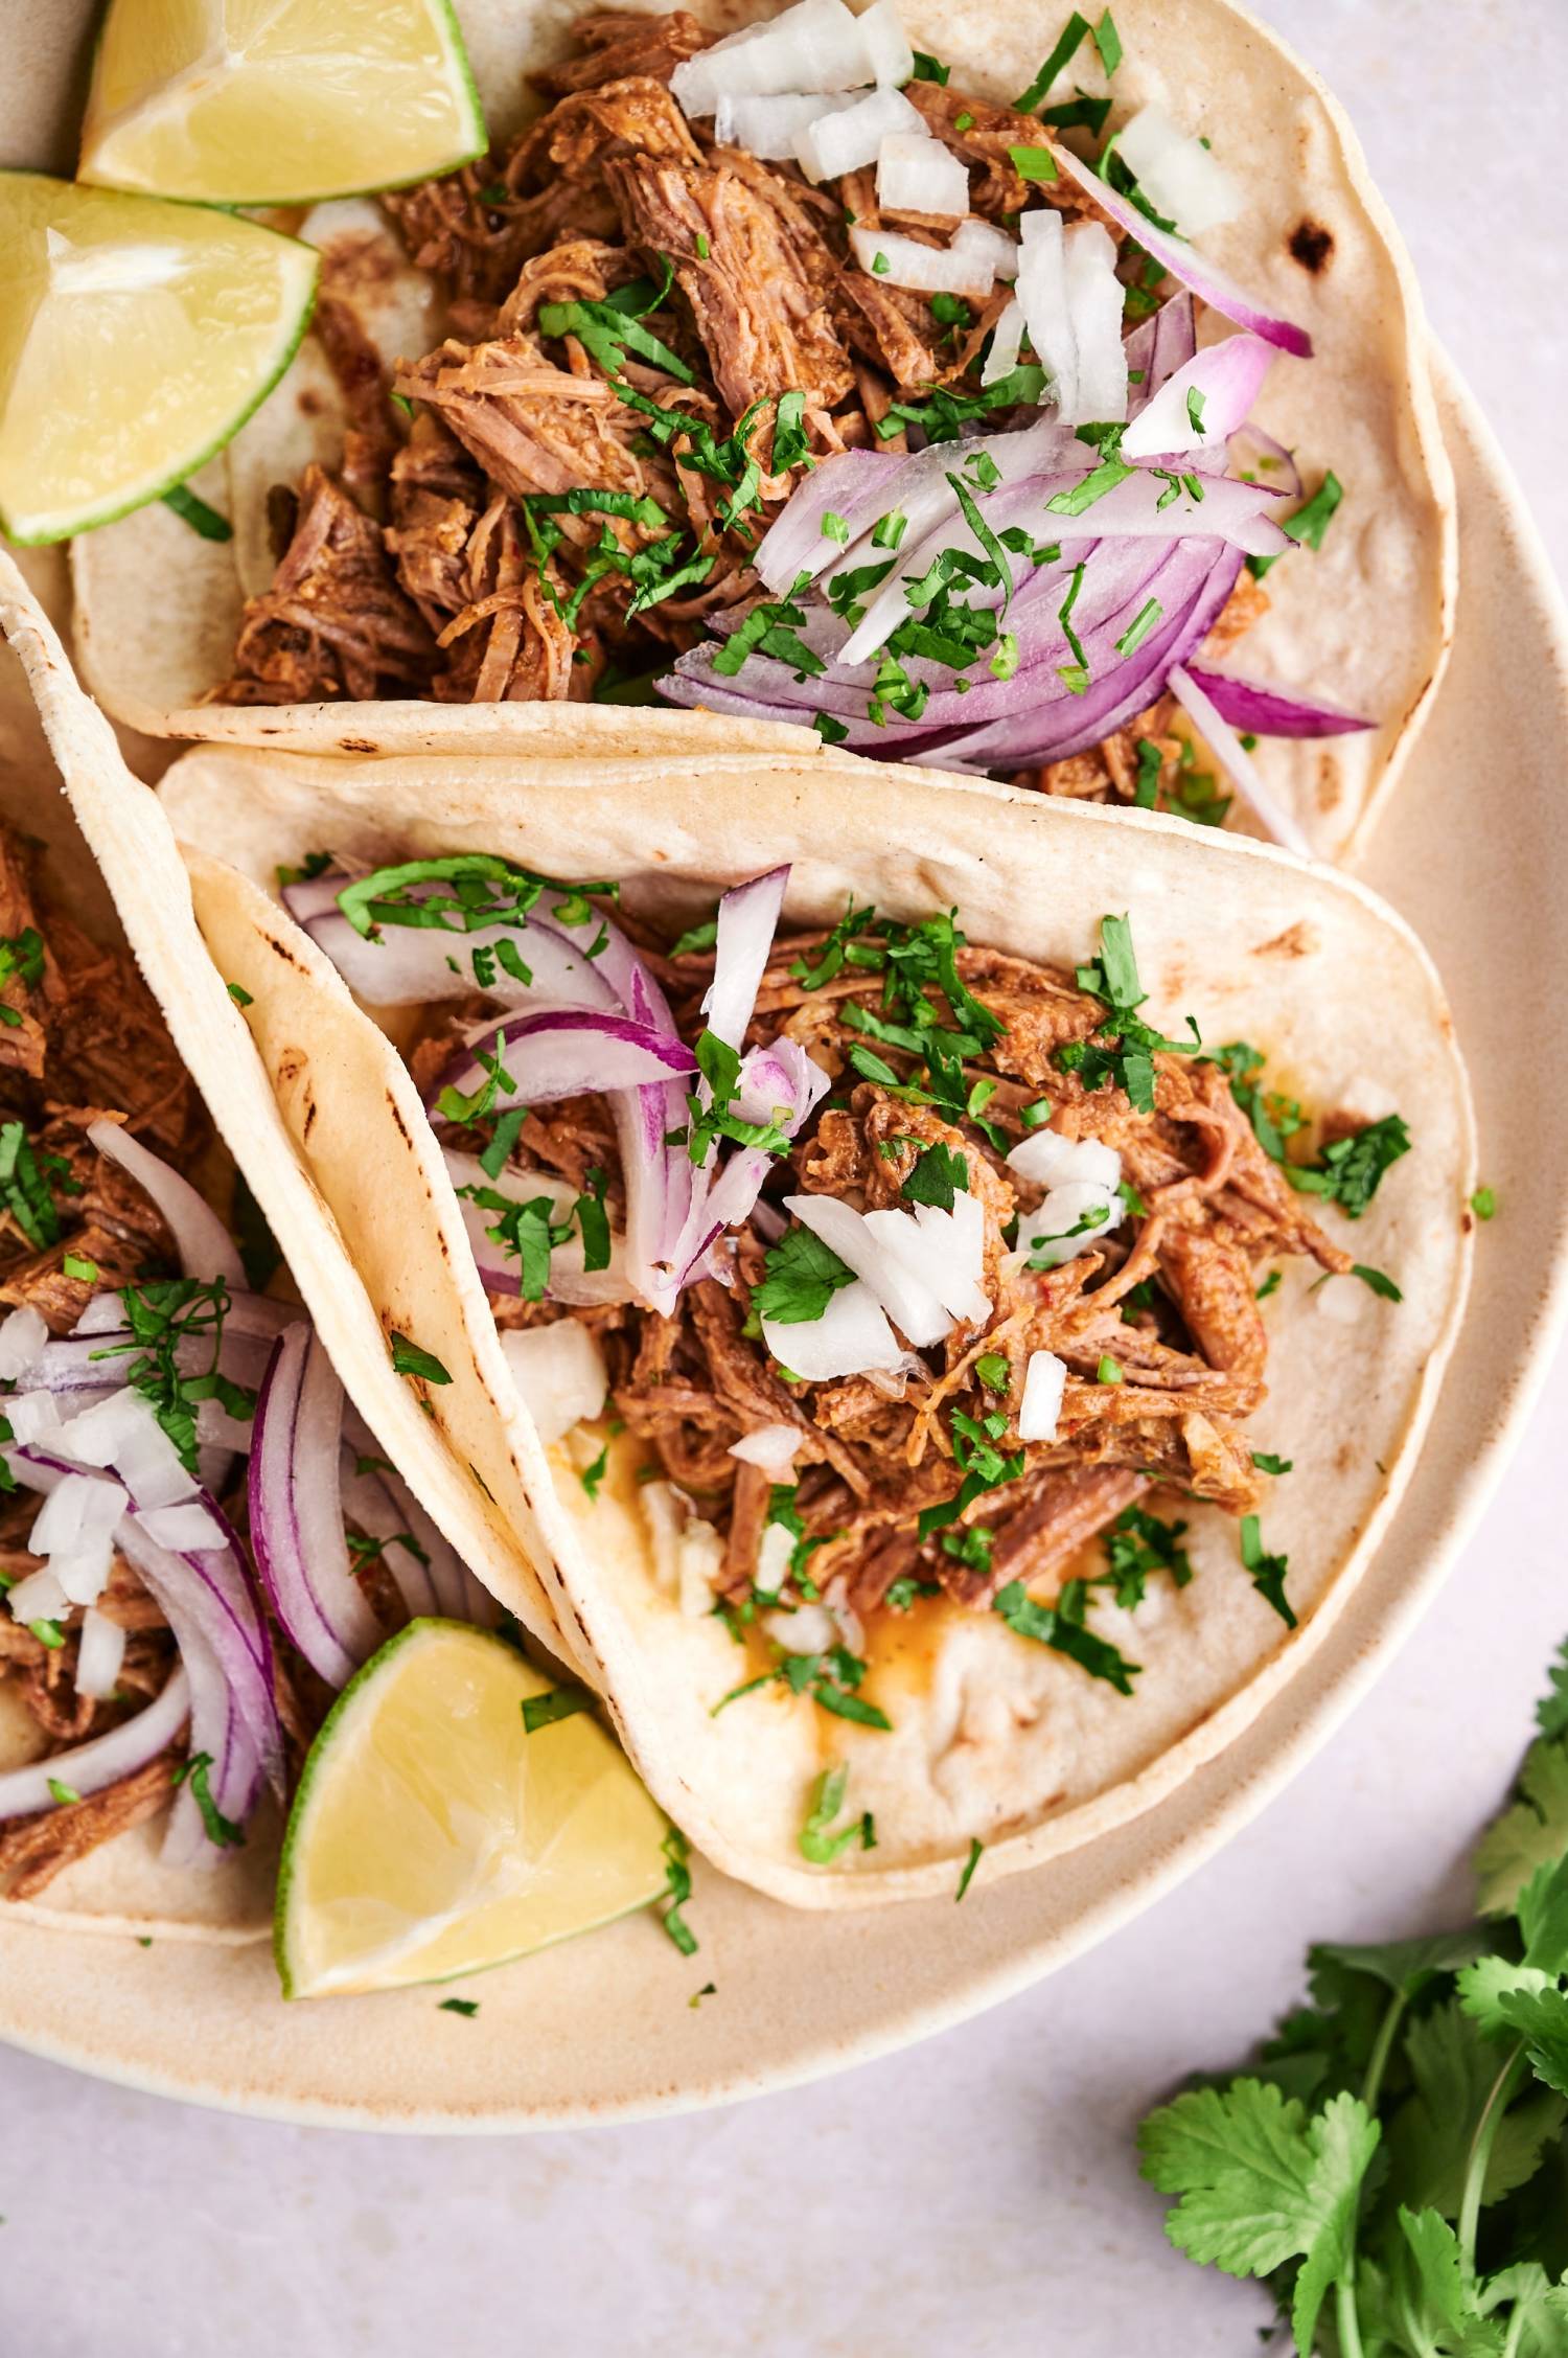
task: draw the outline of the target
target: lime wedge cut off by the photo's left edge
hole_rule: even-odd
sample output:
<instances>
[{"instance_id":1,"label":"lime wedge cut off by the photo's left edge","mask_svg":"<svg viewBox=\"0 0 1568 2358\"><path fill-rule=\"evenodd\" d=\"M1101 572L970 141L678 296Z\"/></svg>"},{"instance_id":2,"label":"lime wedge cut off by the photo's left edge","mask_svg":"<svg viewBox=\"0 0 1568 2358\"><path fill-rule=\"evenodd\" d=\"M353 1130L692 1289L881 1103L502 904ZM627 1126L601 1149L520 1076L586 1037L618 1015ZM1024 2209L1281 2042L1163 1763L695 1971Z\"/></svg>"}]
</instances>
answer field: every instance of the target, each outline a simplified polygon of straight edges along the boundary
<instances>
[{"instance_id":1,"label":"lime wedge cut off by the photo's left edge","mask_svg":"<svg viewBox=\"0 0 1568 2358\"><path fill-rule=\"evenodd\" d=\"M316 252L205 205L0 172L0 528L64 540L182 483L276 384Z\"/></svg>"}]
</instances>

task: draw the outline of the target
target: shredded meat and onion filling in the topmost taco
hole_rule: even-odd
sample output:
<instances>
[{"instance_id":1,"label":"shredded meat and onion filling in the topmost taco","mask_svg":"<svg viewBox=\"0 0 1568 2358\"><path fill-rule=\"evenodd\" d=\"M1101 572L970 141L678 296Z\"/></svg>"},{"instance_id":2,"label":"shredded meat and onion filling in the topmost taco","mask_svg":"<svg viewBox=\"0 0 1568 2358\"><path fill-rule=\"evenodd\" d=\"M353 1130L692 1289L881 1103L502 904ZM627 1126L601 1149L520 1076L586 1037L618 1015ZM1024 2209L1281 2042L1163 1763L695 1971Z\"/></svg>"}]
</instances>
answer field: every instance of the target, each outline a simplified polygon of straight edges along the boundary
<instances>
[{"instance_id":1,"label":"shredded meat and onion filling in the topmost taco","mask_svg":"<svg viewBox=\"0 0 1568 2358\"><path fill-rule=\"evenodd\" d=\"M215 696L663 698L1205 823L1240 792L1299 844L1257 736L1389 717L1226 667L1342 500L1252 422L1311 342L1191 243L1250 203L1210 141L1106 132L1118 64L1075 14L1004 106L896 0L580 19L519 139L382 198L434 349L384 351L403 264L321 222L342 462L269 486Z\"/></svg>"}]
</instances>

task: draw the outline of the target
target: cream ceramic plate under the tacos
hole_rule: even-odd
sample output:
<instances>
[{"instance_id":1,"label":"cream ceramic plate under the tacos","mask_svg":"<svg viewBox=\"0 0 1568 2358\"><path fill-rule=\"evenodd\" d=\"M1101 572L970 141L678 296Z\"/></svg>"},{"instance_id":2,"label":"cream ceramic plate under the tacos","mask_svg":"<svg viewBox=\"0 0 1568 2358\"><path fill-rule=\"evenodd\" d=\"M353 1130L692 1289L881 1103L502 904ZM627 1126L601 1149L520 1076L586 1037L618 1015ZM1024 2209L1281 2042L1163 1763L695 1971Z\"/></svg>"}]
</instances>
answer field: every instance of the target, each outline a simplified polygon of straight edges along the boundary
<instances>
[{"instance_id":1,"label":"cream ceramic plate under the tacos","mask_svg":"<svg viewBox=\"0 0 1568 2358\"><path fill-rule=\"evenodd\" d=\"M1191 1875L1332 1735L1502 1474L1568 1299L1568 618L1485 424L1450 373L1441 391L1460 632L1363 872L1443 969L1500 1214L1394 1528L1278 1702L1160 1809L964 1908L799 1915L698 1863L696 1957L630 1919L474 1983L483 2037L443 2035L429 1990L285 2007L266 1948L144 1950L2 1919L0 2037L158 2094L335 2127L514 2132L724 2103L884 2054L1054 1971ZM693 2007L710 1981L719 1997Z\"/></svg>"}]
</instances>

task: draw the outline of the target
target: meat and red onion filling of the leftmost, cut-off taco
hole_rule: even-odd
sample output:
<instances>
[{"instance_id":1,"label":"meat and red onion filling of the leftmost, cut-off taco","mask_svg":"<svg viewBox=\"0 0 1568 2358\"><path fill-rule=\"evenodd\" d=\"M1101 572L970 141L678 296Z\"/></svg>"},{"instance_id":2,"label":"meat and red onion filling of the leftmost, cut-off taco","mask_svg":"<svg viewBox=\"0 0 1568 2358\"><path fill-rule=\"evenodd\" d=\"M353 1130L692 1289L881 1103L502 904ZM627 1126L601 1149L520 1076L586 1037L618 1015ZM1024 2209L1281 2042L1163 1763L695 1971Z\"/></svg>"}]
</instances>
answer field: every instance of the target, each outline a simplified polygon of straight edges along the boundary
<instances>
[{"instance_id":1,"label":"meat and red onion filling of the leftmost, cut-off taco","mask_svg":"<svg viewBox=\"0 0 1568 2358\"><path fill-rule=\"evenodd\" d=\"M33 1901L170 1802L165 1860L217 1865L391 1629L495 1611L248 1280L151 995L9 830L0 936L0 1893Z\"/></svg>"}]
</instances>

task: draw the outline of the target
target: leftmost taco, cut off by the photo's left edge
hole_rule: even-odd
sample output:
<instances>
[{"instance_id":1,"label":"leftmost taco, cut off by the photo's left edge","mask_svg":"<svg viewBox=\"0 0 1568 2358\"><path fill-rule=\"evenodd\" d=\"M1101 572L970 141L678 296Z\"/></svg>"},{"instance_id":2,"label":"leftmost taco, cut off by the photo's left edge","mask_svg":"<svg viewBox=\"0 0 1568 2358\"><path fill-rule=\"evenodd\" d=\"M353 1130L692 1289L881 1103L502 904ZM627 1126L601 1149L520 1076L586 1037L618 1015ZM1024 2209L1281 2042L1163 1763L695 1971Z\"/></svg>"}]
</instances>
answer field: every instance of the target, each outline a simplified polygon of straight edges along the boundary
<instances>
[{"instance_id":1,"label":"leftmost taco, cut off by the photo's left edge","mask_svg":"<svg viewBox=\"0 0 1568 2358\"><path fill-rule=\"evenodd\" d=\"M0 623L146 974L0 828L0 1910L248 1941L354 1669L410 1618L498 1625L465 1554L545 1660L568 1646L505 1445L479 1431L457 1460L420 1405L436 1349L460 1361L460 1316L387 1304L380 1323L174 847L0 564ZM38 788L21 802L47 818ZM330 1026L316 1052L330 1063ZM396 1188L382 1200L417 1224L424 1200Z\"/></svg>"}]
</instances>

